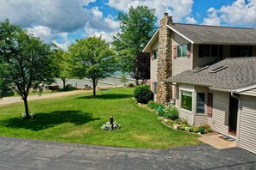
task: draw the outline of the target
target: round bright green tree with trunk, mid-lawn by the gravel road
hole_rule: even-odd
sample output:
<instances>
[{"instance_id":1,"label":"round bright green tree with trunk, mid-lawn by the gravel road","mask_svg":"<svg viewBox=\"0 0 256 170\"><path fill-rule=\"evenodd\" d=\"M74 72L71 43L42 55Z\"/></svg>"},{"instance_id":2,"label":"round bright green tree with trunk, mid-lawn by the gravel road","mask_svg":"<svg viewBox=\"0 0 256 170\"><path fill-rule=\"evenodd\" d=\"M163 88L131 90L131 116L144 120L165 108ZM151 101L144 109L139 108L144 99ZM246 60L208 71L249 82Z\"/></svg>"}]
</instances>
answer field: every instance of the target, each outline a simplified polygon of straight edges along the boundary
<instances>
[{"instance_id":1,"label":"round bright green tree with trunk, mid-lawn by the gravel road","mask_svg":"<svg viewBox=\"0 0 256 170\"><path fill-rule=\"evenodd\" d=\"M79 39L69 47L74 59L74 76L88 78L96 96L97 82L111 76L116 71L116 55L103 39L89 37Z\"/></svg>"}]
</instances>

